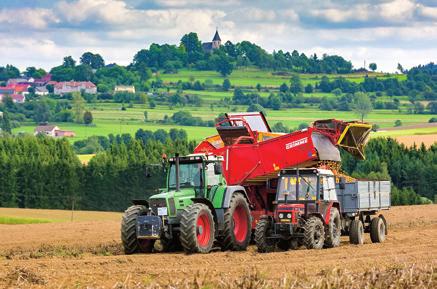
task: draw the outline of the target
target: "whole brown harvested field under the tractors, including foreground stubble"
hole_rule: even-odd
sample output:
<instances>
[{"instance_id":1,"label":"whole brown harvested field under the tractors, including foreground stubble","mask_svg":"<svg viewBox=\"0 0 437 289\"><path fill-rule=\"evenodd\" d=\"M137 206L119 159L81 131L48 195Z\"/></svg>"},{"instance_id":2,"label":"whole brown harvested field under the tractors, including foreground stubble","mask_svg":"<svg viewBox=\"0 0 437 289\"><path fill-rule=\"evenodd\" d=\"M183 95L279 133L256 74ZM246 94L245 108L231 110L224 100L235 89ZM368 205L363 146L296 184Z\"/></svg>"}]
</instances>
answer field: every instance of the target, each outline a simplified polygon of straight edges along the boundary
<instances>
[{"instance_id":1,"label":"whole brown harvested field under the tractors, including foreground stubble","mask_svg":"<svg viewBox=\"0 0 437 289\"><path fill-rule=\"evenodd\" d=\"M436 288L437 205L393 207L385 243L260 254L126 256L120 213L0 209L1 288Z\"/></svg>"}]
</instances>

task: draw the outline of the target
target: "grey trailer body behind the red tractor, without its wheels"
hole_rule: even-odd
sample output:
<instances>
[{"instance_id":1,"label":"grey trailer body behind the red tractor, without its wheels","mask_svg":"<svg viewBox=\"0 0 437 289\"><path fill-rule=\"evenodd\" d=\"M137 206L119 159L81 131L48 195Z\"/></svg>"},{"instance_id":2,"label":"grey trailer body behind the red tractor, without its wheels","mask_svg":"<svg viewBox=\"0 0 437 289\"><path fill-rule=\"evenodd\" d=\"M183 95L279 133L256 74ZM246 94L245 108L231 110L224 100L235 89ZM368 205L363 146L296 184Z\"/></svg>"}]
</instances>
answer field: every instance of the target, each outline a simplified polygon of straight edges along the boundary
<instances>
[{"instance_id":1,"label":"grey trailer body behind the red tractor, without its wheels","mask_svg":"<svg viewBox=\"0 0 437 289\"><path fill-rule=\"evenodd\" d=\"M346 214L390 208L389 181L355 181L336 188L341 210Z\"/></svg>"}]
</instances>

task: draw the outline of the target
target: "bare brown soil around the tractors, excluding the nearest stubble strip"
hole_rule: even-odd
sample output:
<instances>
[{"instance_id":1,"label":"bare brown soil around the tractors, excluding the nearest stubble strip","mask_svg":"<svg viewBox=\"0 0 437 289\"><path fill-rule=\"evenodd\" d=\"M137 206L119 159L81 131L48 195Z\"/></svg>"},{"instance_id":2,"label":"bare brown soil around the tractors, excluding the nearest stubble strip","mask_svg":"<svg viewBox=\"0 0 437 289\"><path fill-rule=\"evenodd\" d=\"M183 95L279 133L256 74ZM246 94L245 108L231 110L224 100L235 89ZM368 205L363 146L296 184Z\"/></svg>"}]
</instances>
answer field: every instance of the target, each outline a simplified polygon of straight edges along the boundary
<instances>
[{"instance_id":1,"label":"bare brown soil around the tractors, excluding the nearest stubble strip","mask_svg":"<svg viewBox=\"0 0 437 289\"><path fill-rule=\"evenodd\" d=\"M114 221L0 225L0 288L20 284L112 288L126 280L147 285L207 276L219 281L255 271L279 279L334 267L360 272L373 267L437 265L437 205L395 207L385 215L390 228L383 244L371 244L366 235L363 246L349 245L343 238L335 249L271 254L256 253L251 246L247 252L125 256L119 244L119 223Z\"/></svg>"}]
</instances>

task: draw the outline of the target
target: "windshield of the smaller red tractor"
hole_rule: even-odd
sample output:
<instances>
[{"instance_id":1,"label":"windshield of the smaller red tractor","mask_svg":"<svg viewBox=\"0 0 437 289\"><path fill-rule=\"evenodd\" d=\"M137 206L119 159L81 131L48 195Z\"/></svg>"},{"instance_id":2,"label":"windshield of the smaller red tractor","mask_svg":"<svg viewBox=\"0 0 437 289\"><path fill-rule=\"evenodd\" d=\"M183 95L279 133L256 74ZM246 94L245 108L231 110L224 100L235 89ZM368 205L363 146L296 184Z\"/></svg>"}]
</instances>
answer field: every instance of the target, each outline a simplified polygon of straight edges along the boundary
<instances>
[{"instance_id":1,"label":"windshield of the smaller red tractor","mask_svg":"<svg viewBox=\"0 0 437 289\"><path fill-rule=\"evenodd\" d=\"M298 186L297 186L297 182L299 182ZM299 187L298 194L296 193L297 187ZM286 195L287 195L287 201L316 200L317 176L301 175L299 176L299 178L297 178L296 176L282 176L279 179L278 201L285 201Z\"/></svg>"}]
</instances>

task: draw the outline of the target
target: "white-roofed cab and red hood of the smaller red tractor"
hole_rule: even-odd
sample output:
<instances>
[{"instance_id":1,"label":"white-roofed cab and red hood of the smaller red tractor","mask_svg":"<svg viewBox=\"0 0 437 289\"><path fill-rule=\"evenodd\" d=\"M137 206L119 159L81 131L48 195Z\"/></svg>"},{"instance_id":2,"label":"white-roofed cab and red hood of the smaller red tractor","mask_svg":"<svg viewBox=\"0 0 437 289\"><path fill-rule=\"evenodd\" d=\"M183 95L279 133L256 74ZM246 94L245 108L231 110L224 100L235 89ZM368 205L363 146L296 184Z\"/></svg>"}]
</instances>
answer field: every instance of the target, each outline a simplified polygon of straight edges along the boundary
<instances>
[{"instance_id":1,"label":"white-roofed cab and red hood of the smaller red tractor","mask_svg":"<svg viewBox=\"0 0 437 289\"><path fill-rule=\"evenodd\" d=\"M275 218L297 224L299 217L325 215L330 203L337 201L335 176L324 169L283 170L279 176Z\"/></svg>"}]
</instances>

